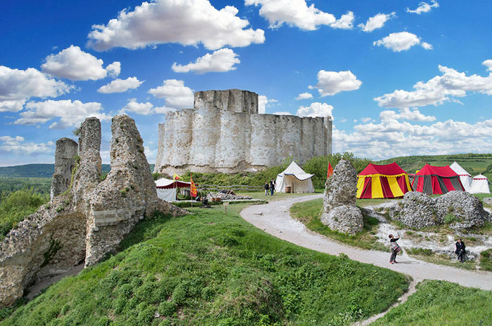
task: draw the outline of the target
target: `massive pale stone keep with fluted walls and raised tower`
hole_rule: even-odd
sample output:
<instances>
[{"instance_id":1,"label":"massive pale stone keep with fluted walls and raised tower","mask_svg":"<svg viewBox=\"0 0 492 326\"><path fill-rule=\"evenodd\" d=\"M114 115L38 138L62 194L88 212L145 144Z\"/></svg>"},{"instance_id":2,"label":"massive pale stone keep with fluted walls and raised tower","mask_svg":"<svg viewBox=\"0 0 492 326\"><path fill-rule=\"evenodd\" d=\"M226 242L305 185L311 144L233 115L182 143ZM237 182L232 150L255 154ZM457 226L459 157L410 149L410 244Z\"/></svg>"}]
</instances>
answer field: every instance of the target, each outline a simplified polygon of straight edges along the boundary
<instances>
[{"instance_id":1,"label":"massive pale stone keep with fluted walls and raised tower","mask_svg":"<svg viewBox=\"0 0 492 326\"><path fill-rule=\"evenodd\" d=\"M193 109L171 112L159 125L154 172L242 172L331 153L330 117L258 114L256 93L207 90L195 93Z\"/></svg>"}]
</instances>

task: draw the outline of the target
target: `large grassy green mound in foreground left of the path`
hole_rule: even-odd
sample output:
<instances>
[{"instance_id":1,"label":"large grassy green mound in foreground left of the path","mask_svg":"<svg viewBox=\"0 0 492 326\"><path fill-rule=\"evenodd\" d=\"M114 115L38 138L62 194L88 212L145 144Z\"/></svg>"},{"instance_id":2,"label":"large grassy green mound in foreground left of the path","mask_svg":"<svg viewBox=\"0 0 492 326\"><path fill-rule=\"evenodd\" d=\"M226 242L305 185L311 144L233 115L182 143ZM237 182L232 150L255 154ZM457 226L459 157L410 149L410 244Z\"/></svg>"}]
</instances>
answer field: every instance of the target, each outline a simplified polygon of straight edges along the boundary
<instances>
[{"instance_id":1,"label":"large grassy green mound in foreground left of the path","mask_svg":"<svg viewBox=\"0 0 492 326\"><path fill-rule=\"evenodd\" d=\"M0 311L0 325L350 325L408 290L402 274L264 233L245 206L144 219L122 252Z\"/></svg>"}]
</instances>

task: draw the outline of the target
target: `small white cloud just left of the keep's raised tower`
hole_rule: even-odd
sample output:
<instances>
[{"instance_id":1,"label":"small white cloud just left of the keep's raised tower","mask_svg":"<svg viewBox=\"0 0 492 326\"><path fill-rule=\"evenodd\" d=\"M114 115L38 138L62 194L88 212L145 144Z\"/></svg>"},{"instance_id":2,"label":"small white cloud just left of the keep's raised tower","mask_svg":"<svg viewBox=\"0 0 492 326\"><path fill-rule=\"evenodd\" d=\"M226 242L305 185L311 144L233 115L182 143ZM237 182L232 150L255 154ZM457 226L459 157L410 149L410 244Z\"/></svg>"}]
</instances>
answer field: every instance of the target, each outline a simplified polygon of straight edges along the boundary
<instances>
[{"instance_id":1,"label":"small white cloud just left of the keep's raised tower","mask_svg":"<svg viewBox=\"0 0 492 326\"><path fill-rule=\"evenodd\" d=\"M166 107L171 109L186 109L193 107L193 90L184 86L184 81L167 79L164 85L150 88L148 93L166 100Z\"/></svg>"}]
</instances>

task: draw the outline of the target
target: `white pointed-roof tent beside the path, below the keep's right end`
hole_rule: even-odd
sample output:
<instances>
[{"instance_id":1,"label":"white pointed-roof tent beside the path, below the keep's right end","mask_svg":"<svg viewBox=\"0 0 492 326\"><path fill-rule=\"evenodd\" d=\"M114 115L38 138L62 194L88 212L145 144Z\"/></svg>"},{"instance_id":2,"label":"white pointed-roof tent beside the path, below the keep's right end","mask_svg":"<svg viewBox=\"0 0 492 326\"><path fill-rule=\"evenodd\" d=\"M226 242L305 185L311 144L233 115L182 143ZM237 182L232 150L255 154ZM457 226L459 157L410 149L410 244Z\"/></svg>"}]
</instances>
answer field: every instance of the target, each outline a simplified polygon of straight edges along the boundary
<instances>
[{"instance_id":1,"label":"white pointed-roof tent beside the path, below the keep's right end","mask_svg":"<svg viewBox=\"0 0 492 326\"><path fill-rule=\"evenodd\" d=\"M314 192L313 182L309 173L299 168L294 161L282 172L277 175L276 191L285 192L285 187L290 186L292 193Z\"/></svg>"}]
</instances>

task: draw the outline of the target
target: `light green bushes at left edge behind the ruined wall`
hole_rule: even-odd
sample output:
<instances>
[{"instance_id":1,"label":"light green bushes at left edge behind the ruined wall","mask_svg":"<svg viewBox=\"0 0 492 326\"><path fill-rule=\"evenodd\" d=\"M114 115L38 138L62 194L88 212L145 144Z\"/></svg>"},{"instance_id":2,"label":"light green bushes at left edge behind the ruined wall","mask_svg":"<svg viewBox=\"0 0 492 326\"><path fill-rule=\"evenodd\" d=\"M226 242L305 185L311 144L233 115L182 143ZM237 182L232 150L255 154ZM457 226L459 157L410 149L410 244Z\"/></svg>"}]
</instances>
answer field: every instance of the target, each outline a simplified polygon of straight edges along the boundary
<instances>
[{"instance_id":1,"label":"light green bushes at left edge behind the ruined wall","mask_svg":"<svg viewBox=\"0 0 492 326\"><path fill-rule=\"evenodd\" d=\"M36 212L39 206L49 200L47 195L36 193L34 189L21 189L9 193L0 201L0 240L24 217Z\"/></svg>"}]
</instances>

